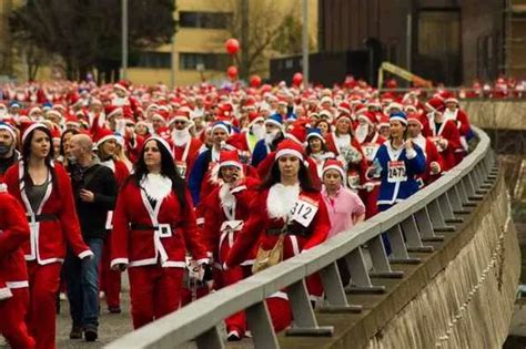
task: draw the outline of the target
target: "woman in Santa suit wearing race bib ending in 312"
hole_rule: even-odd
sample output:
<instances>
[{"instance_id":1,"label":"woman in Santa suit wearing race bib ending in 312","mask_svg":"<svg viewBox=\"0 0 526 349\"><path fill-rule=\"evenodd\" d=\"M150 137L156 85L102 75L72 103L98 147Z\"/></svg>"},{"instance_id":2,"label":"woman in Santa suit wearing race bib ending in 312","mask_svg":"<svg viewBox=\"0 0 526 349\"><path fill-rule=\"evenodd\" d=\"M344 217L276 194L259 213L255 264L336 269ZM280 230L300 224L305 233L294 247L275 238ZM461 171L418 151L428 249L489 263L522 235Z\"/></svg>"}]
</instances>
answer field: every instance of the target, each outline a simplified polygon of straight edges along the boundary
<instances>
[{"instance_id":1,"label":"woman in Santa suit wearing race bib ending in 312","mask_svg":"<svg viewBox=\"0 0 526 349\"><path fill-rule=\"evenodd\" d=\"M303 164L303 147L285 140L277 146L275 158L223 267L239 266L260 247L272 249L282 232L286 232L283 258L287 259L323 243L331 229L320 188L312 185L310 172ZM321 296L318 279L310 277L307 287L311 296ZM281 331L290 326L292 314L286 294L279 291L266 301L274 329Z\"/></svg>"}]
</instances>

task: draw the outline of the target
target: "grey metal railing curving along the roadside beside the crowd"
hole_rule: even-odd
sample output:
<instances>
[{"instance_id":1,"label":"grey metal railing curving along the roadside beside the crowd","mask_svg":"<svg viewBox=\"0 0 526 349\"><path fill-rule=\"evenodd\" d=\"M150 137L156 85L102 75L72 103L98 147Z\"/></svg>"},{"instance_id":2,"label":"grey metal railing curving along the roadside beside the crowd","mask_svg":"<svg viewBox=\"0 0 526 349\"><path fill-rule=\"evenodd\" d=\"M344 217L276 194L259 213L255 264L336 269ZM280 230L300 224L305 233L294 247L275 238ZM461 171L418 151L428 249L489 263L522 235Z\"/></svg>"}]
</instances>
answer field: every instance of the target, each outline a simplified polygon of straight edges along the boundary
<instances>
[{"instance_id":1,"label":"grey metal railing curving along the roadside beside the crowd","mask_svg":"<svg viewBox=\"0 0 526 349\"><path fill-rule=\"evenodd\" d=\"M439 233L454 230L449 224L461 223L483 198L496 178L496 158L488 136L474 127L479 140L475 150L461 164L433 184L391 209L368 219L350 234L338 234L324 244L286 259L279 266L253 275L223 288L139 330L113 341L107 348L174 348L195 340L198 348L224 348L221 322L232 314L245 310L247 327L255 348L280 348L273 330L265 298L285 289L293 312L292 330L297 335L332 333L331 327L320 327L308 299L305 278L320 273L328 310L361 311L348 304L347 292L378 292L372 276L401 278L392 264L419 263L411 252L433 252L426 242L443 240ZM392 254L387 256L382 233L390 237ZM364 245L371 254L373 271L364 258ZM352 287L345 289L336 260L345 258L352 276ZM352 297L351 297L352 298Z\"/></svg>"}]
</instances>

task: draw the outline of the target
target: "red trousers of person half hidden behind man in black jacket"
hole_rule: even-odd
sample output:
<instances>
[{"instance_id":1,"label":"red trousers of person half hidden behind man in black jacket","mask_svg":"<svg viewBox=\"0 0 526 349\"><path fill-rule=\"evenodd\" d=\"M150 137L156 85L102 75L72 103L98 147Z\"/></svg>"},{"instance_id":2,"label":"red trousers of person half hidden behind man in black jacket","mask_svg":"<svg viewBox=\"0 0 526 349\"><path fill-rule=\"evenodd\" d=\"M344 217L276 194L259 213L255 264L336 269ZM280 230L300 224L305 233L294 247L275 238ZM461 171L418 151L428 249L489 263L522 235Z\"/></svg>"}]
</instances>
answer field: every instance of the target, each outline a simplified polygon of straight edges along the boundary
<instances>
[{"instance_id":1,"label":"red trousers of person half hidden behind man in black jacket","mask_svg":"<svg viewBox=\"0 0 526 349\"><path fill-rule=\"evenodd\" d=\"M111 239L104 240L100 267L100 289L104 291L105 302L109 308L121 306L121 271L110 268L111 263Z\"/></svg>"}]
</instances>

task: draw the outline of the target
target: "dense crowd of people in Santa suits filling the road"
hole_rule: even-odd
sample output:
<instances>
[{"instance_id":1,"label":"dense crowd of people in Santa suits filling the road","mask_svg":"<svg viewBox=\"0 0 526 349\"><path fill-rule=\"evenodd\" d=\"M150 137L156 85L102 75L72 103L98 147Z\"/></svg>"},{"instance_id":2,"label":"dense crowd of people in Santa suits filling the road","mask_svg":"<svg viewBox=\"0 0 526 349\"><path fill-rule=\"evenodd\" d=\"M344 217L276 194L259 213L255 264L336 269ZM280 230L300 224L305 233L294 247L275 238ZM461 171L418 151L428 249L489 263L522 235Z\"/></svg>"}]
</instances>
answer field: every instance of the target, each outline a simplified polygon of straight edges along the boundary
<instances>
[{"instance_id":1,"label":"dense crowd of people in Santa suits filling the road","mask_svg":"<svg viewBox=\"0 0 526 349\"><path fill-rule=\"evenodd\" d=\"M100 292L121 312L124 270L136 329L352 234L458 164L473 138L451 92L361 81L2 91L0 332L13 348L54 348L62 288L70 338L94 341ZM317 275L307 288L323 299ZM267 306L276 330L291 325L286 290ZM229 340L247 335L243 311L225 324Z\"/></svg>"}]
</instances>

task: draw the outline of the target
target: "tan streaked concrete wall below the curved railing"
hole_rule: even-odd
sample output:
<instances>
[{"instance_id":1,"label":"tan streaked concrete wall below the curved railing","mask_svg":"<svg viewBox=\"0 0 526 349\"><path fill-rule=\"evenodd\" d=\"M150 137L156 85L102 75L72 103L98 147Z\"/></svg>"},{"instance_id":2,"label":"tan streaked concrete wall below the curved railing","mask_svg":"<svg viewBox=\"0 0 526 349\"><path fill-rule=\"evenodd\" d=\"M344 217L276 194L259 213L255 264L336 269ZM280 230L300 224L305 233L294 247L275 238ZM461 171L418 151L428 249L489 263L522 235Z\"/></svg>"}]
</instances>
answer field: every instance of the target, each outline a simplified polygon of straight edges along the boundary
<instances>
[{"instance_id":1,"label":"tan streaked concrete wall below the curved railing","mask_svg":"<svg viewBox=\"0 0 526 349\"><path fill-rule=\"evenodd\" d=\"M520 274L508 203L500 175L444 248L445 268L365 348L502 348Z\"/></svg>"}]
</instances>

